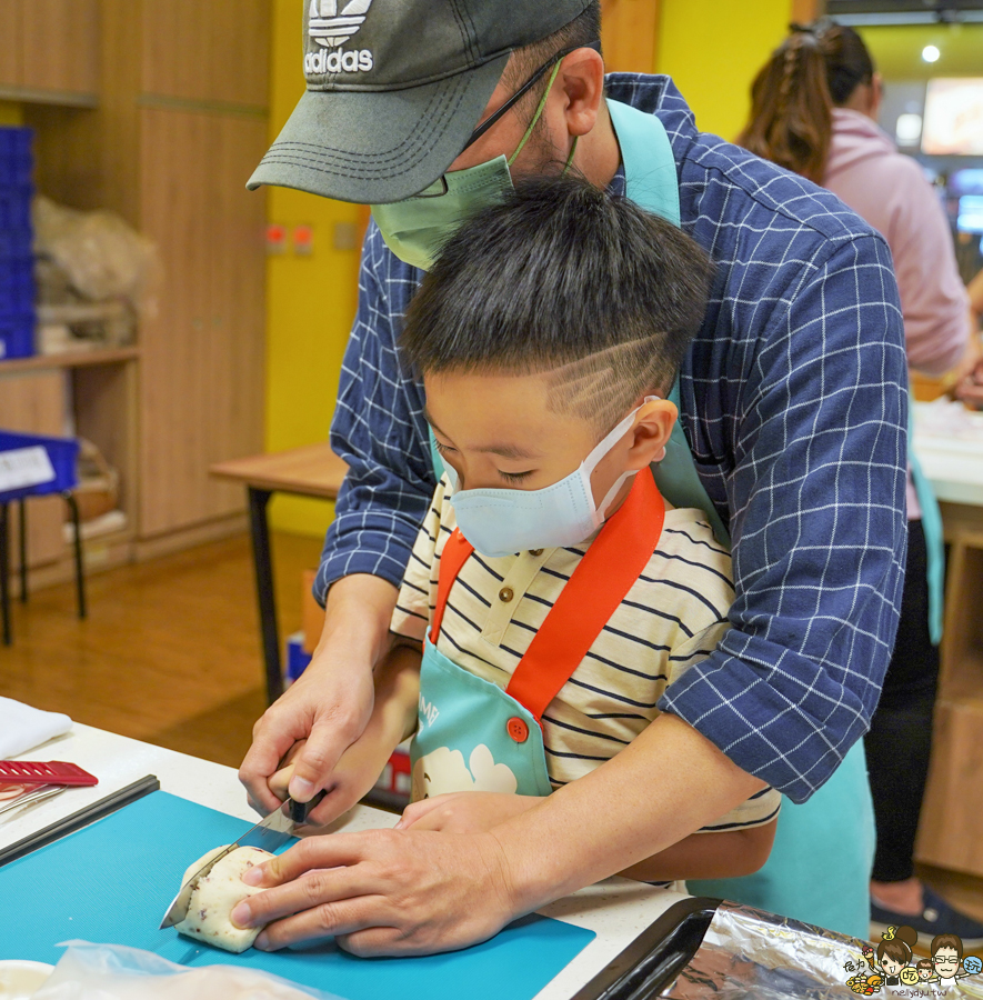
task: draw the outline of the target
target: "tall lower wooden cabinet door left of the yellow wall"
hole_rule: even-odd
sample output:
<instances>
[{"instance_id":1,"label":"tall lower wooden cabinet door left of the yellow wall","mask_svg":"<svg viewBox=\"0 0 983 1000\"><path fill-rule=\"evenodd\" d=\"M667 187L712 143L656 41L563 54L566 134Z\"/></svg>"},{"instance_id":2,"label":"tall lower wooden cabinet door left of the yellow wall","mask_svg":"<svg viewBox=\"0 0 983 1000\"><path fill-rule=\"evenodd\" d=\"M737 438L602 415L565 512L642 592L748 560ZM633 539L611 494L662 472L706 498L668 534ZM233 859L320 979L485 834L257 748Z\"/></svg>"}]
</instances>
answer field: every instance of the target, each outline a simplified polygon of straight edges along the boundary
<instances>
[{"instance_id":1,"label":"tall lower wooden cabinet door left of the yellow wall","mask_svg":"<svg viewBox=\"0 0 983 1000\"><path fill-rule=\"evenodd\" d=\"M265 200L244 178L267 148L263 120L147 109L143 230L168 293L141 331L141 532L242 509L210 478L222 459L262 450ZM180 157L174 151L180 150Z\"/></svg>"}]
</instances>

